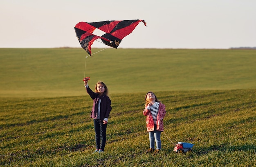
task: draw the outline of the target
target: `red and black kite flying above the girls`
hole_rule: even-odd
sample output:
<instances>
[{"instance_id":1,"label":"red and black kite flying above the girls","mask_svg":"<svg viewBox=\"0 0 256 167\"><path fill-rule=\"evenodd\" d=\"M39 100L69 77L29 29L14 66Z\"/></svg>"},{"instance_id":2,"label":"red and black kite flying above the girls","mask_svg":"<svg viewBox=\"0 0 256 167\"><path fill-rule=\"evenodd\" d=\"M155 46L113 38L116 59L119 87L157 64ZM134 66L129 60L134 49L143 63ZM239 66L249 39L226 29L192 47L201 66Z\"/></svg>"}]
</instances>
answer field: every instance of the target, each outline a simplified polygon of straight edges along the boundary
<instances>
[{"instance_id":1,"label":"red and black kite flying above the girls","mask_svg":"<svg viewBox=\"0 0 256 167\"><path fill-rule=\"evenodd\" d=\"M124 37L132 33L135 27L144 20L122 20L122 21L103 21L103 22L79 22L76 24L75 31L82 48L92 56L91 45L97 39L112 47L117 48ZM106 34L97 36L92 34L95 29L99 29Z\"/></svg>"}]
</instances>

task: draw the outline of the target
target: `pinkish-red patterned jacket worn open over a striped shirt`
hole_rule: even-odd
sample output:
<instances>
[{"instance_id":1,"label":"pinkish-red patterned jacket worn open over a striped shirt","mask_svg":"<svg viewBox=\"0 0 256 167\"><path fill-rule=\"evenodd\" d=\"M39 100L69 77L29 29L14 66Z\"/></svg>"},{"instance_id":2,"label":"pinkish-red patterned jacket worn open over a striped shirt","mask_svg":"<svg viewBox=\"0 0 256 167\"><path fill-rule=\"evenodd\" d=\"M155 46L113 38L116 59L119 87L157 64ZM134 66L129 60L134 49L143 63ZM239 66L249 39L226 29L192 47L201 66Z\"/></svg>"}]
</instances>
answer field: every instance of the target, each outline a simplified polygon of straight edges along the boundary
<instances>
[{"instance_id":1,"label":"pinkish-red patterned jacket worn open over a striped shirt","mask_svg":"<svg viewBox=\"0 0 256 167\"><path fill-rule=\"evenodd\" d=\"M147 116L146 124L147 124L147 132L154 131L154 121L153 116L151 115L150 110L147 108L148 106L145 106L145 109L143 111L143 115ZM166 114L165 105L160 103L159 104L159 110L157 114L157 130L163 132L164 131L164 123L163 119Z\"/></svg>"}]
</instances>

